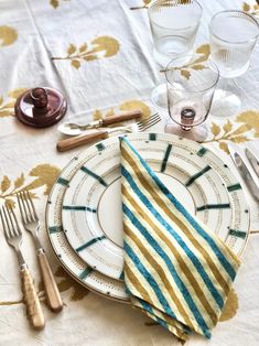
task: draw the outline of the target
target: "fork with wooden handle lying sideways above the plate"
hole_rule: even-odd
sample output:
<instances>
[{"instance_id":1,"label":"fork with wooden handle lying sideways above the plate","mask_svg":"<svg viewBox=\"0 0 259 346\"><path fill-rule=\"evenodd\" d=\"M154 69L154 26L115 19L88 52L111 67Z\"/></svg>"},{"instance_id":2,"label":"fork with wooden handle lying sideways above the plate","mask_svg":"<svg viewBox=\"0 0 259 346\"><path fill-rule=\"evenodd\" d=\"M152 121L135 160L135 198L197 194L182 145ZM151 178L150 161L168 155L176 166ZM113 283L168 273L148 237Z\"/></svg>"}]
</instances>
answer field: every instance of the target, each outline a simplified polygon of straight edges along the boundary
<instances>
[{"instance_id":1,"label":"fork with wooden handle lying sideways above the plate","mask_svg":"<svg viewBox=\"0 0 259 346\"><path fill-rule=\"evenodd\" d=\"M159 113L152 115L149 119L140 120L128 126L116 127L111 129L106 129L105 131L95 131L88 134L77 136L75 138L64 139L58 141L56 149L58 151L66 151L73 148L77 148L83 144L90 143L95 140L106 139L112 132L142 132L151 128L153 125L158 123L161 120Z\"/></svg>"}]
</instances>

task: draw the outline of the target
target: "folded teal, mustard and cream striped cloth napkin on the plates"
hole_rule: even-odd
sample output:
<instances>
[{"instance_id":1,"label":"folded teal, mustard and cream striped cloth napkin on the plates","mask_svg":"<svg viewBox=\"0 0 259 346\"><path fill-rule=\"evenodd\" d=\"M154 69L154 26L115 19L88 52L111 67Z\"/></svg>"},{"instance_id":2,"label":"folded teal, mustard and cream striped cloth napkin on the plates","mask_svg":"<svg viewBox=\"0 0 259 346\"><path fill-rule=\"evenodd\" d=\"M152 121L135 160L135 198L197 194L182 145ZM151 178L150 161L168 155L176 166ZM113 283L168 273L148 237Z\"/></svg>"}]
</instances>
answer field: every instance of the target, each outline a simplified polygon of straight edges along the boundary
<instances>
[{"instance_id":1,"label":"folded teal, mustard and cream striped cloth napkin on the plates","mask_svg":"<svg viewBox=\"0 0 259 346\"><path fill-rule=\"evenodd\" d=\"M188 214L127 138L120 149L123 274L132 305L182 342L193 332L209 338L239 260Z\"/></svg>"}]
</instances>

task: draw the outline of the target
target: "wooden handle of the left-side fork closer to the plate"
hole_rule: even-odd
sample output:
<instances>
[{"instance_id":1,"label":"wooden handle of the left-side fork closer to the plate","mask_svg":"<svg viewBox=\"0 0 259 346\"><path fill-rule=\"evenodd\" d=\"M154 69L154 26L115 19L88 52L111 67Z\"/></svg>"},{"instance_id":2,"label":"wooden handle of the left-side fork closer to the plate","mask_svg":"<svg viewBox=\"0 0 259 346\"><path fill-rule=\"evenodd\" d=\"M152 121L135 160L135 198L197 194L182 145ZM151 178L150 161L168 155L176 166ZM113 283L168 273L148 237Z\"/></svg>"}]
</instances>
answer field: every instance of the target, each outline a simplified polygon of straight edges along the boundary
<instances>
[{"instance_id":1,"label":"wooden handle of the left-side fork closer to the plate","mask_svg":"<svg viewBox=\"0 0 259 346\"><path fill-rule=\"evenodd\" d=\"M42 280L46 293L47 303L52 311L60 312L63 309L61 293L56 285L53 272L51 270L46 253L43 249L37 251L39 264L41 268Z\"/></svg>"}]
</instances>

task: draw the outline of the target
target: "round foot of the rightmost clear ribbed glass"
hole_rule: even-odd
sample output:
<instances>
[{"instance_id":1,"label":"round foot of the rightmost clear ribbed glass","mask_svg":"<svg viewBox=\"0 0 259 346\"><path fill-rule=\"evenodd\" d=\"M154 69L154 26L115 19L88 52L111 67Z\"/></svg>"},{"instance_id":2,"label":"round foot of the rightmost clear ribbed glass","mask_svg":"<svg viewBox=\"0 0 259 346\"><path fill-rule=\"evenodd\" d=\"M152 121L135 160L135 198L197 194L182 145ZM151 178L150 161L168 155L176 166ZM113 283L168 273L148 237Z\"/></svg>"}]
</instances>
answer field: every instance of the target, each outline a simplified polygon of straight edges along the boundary
<instances>
[{"instance_id":1,"label":"round foot of the rightmost clear ribbed glass","mask_svg":"<svg viewBox=\"0 0 259 346\"><path fill-rule=\"evenodd\" d=\"M241 109L241 100L236 94L224 89L214 93L211 113L215 117L230 117Z\"/></svg>"}]
</instances>

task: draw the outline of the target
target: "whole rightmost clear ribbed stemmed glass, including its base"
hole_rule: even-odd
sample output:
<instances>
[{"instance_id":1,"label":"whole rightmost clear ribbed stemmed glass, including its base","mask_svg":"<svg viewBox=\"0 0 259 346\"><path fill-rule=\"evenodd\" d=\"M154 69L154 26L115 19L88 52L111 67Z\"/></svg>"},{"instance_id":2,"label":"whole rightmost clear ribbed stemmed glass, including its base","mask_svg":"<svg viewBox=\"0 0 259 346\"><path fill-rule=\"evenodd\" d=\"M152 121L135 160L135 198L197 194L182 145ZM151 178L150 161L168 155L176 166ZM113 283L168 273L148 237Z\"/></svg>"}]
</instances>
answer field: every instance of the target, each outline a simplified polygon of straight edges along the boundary
<instances>
[{"instance_id":1,"label":"whole rightmost clear ribbed stemmed glass, including its base","mask_svg":"<svg viewBox=\"0 0 259 346\"><path fill-rule=\"evenodd\" d=\"M249 67L249 60L259 35L257 20L242 11L227 10L216 13L209 25L211 58L217 64L223 88L215 93L215 116L235 113L241 101L229 90L231 79L242 75ZM217 111L216 111L217 110ZM224 111L226 110L226 111Z\"/></svg>"}]
</instances>

